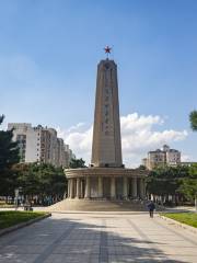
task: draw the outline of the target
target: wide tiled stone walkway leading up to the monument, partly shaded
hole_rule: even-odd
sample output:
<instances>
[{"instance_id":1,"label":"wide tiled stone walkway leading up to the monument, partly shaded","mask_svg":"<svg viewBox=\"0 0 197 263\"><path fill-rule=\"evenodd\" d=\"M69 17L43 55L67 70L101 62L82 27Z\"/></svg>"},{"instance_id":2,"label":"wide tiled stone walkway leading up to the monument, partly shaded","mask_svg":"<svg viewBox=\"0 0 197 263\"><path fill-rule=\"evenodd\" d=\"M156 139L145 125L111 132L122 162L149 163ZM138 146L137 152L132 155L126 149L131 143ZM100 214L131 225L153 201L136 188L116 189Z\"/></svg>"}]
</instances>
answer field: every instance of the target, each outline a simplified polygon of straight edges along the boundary
<instances>
[{"instance_id":1,"label":"wide tiled stone walkway leading up to the monument, partly shaded","mask_svg":"<svg viewBox=\"0 0 197 263\"><path fill-rule=\"evenodd\" d=\"M197 235L147 213L67 213L0 238L0 263L197 262Z\"/></svg>"}]
</instances>

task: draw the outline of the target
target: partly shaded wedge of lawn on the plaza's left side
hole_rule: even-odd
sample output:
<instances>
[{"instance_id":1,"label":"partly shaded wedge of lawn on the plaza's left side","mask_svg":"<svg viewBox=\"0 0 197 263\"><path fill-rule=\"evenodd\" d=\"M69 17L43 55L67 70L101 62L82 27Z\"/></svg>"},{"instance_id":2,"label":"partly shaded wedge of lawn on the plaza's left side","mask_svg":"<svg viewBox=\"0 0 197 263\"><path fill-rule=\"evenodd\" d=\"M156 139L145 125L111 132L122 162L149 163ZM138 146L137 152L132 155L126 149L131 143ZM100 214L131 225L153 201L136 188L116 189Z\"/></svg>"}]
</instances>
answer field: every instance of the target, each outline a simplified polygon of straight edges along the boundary
<instances>
[{"instance_id":1,"label":"partly shaded wedge of lawn on the plaza's left side","mask_svg":"<svg viewBox=\"0 0 197 263\"><path fill-rule=\"evenodd\" d=\"M0 229L8 228L20 222L28 221L46 214L47 213L44 211L0 211Z\"/></svg>"}]
</instances>

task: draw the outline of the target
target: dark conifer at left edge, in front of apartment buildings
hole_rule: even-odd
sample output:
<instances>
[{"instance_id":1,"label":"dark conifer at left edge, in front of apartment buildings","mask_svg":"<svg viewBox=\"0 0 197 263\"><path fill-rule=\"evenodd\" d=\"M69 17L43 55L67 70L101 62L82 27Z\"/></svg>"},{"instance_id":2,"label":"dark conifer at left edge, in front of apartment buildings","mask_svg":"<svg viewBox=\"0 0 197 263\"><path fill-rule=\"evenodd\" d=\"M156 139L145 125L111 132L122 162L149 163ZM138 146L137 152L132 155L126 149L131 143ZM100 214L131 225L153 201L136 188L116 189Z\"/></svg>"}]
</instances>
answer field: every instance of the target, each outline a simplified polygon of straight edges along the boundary
<instances>
[{"instance_id":1,"label":"dark conifer at left edge, in front of apartment buildings","mask_svg":"<svg viewBox=\"0 0 197 263\"><path fill-rule=\"evenodd\" d=\"M0 116L2 124L4 116ZM18 142L12 141L12 130L0 130L0 195L13 196L15 174L12 171L14 163L20 161Z\"/></svg>"}]
</instances>

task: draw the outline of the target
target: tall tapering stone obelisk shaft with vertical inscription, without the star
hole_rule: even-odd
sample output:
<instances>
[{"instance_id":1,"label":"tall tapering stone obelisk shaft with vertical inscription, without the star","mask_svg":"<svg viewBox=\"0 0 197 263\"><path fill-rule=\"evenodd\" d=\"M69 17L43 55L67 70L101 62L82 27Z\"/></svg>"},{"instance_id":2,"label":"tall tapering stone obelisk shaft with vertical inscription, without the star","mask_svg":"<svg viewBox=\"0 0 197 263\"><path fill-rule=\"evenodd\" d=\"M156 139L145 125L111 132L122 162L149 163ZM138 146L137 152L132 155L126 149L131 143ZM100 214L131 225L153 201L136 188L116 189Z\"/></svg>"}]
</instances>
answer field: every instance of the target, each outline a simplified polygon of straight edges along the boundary
<instances>
[{"instance_id":1,"label":"tall tapering stone obelisk shaft with vertical inscription, without the star","mask_svg":"<svg viewBox=\"0 0 197 263\"><path fill-rule=\"evenodd\" d=\"M108 58L97 65L91 163L123 167L117 66Z\"/></svg>"}]
</instances>

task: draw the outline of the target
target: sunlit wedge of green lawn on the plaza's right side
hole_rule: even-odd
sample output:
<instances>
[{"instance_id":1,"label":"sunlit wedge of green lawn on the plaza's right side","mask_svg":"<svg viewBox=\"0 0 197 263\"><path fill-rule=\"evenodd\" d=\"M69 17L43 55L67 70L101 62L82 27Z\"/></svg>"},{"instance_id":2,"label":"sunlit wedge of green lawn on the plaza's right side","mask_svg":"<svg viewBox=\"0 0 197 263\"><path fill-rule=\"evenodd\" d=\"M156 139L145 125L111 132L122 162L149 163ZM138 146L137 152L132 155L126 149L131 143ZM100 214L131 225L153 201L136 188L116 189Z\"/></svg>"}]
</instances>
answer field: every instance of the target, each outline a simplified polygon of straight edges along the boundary
<instances>
[{"instance_id":1,"label":"sunlit wedge of green lawn on the plaza's right side","mask_svg":"<svg viewBox=\"0 0 197 263\"><path fill-rule=\"evenodd\" d=\"M161 213L160 215L197 228L197 213Z\"/></svg>"}]
</instances>

